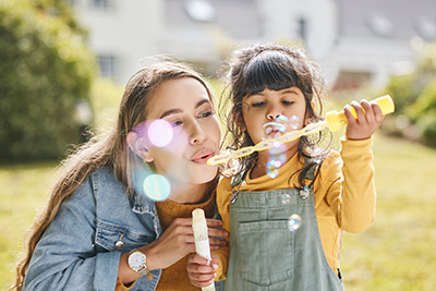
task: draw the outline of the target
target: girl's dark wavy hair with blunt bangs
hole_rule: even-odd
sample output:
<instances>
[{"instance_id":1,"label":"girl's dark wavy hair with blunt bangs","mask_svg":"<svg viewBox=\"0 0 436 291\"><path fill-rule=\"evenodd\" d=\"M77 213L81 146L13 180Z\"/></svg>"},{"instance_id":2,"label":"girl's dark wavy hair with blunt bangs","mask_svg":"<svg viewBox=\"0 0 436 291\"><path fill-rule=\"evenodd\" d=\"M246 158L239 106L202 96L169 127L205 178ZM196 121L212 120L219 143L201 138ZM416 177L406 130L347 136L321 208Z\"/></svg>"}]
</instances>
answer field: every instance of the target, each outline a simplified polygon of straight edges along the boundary
<instances>
[{"instance_id":1,"label":"girl's dark wavy hair with blunt bangs","mask_svg":"<svg viewBox=\"0 0 436 291\"><path fill-rule=\"evenodd\" d=\"M323 120L323 99L327 95L327 86L319 68L311 61L301 49L292 49L275 44L258 44L237 50L229 62L226 76L227 86L219 105L220 117L227 120L227 132L222 148L235 150L254 143L246 132L242 114L242 99L268 88L281 90L289 87L301 89L306 101L307 122ZM312 105L315 104L313 107ZM315 162L305 165L299 175L300 184L304 185L305 173L323 162L328 149L319 150L319 143L325 138L326 131L311 136L302 136L299 145L299 160L303 157L316 158ZM331 142L329 133L329 143ZM257 151L240 159L239 171L245 171L254 166Z\"/></svg>"}]
</instances>

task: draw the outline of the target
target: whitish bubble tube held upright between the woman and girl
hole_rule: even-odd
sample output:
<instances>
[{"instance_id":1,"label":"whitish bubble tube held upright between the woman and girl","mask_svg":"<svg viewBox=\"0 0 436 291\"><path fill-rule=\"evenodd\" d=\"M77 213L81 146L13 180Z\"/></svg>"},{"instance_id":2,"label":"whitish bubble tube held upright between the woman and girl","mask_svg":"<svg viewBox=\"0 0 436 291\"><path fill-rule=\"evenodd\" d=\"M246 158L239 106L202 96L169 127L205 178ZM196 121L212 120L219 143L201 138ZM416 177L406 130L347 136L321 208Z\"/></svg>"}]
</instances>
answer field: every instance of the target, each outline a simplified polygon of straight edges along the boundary
<instances>
[{"instance_id":1,"label":"whitish bubble tube held upright between the woman and girl","mask_svg":"<svg viewBox=\"0 0 436 291\"><path fill-rule=\"evenodd\" d=\"M194 231L195 251L202 257L207 258L209 262L210 257L210 245L209 235L207 233L207 222L204 215L204 210L201 208L192 211L192 230ZM208 287L203 287L202 291L215 291L215 283L213 282Z\"/></svg>"}]
</instances>

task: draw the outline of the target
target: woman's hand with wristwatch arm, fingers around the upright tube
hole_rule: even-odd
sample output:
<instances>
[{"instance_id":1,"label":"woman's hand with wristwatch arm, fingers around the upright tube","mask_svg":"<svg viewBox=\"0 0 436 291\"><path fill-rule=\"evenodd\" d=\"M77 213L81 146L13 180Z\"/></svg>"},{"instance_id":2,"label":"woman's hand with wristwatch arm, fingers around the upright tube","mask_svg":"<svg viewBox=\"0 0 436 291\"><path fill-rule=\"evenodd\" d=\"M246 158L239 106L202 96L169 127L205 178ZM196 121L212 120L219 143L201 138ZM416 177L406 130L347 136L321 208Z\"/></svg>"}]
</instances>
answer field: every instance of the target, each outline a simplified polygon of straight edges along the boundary
<instances>
[{"instance_id":1,"label":"woman's hand with wristwatch arm, fingers around the upright tube","mask_svg":"<svg viewBox=\"0 0 436 291\"><path fill-rule=\"evenodd\" d=\"M225 230L213 229L222 226L222 221L207 219L209 237L227 238L229 233ZM210 250L218 250L226 245L225 240L209 238ZM192 230L192 218L177 218L168 229L154 242L141 251L147 255L148 269L167 268L190 253L195 253L194 232Z\"/></svg>"}]
</instances>

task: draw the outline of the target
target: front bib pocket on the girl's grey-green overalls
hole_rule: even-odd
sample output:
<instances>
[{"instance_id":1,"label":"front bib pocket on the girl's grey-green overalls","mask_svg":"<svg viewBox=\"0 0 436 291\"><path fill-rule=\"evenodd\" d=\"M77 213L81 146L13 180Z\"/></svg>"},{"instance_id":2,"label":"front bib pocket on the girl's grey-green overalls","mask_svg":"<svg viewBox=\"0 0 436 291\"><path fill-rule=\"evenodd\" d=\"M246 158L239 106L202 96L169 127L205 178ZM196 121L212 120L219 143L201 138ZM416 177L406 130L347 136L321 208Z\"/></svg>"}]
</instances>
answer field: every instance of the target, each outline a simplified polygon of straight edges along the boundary
<instances>
[{"instance_id":1,"label":"front bib pocket on the girl's grey-green overalls","mask_svg":"<svg viewBox=\"0 0 436 291\"><path fill-rule=\"evenodd\" d=\"M294 237L287 223L286 220L239 223L239 259L244 280L269 286L293 277Z\"/></svg>"}]
</instances>

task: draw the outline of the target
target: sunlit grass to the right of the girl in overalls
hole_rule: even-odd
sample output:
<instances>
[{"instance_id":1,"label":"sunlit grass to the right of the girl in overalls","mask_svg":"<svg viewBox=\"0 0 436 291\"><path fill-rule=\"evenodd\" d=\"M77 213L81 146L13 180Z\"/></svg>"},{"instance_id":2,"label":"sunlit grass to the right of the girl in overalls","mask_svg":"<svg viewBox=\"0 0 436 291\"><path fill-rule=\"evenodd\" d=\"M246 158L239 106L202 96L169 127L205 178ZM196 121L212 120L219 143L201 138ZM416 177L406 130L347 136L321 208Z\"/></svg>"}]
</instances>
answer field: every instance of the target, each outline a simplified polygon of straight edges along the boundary
<instances>
[{"instance_id":1,"label":"sunlit grass to the right of the girl in overalls","mask_svg":"<svg viewBox=\"0 0 436 291\"><path fill-rule=\"evenodd\" d=\"M436 150L377 134L373 151L376 219L343 237L346 289L436 290Z\"/></svg>"}]
</instances>

